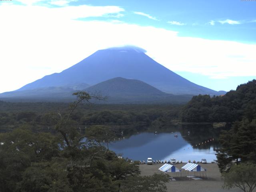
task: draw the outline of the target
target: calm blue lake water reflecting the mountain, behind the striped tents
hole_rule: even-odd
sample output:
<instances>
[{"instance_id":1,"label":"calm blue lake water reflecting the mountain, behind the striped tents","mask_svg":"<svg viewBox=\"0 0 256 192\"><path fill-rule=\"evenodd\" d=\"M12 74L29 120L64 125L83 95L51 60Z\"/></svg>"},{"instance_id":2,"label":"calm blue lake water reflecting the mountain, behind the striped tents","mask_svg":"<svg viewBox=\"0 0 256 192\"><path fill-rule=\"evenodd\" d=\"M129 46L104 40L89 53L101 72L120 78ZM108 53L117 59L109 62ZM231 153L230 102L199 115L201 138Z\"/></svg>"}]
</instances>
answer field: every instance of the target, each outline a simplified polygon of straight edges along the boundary
<instances>
[{"instance_id":1,"label":"calm blue lake water reflecting the mountain, behind the striped tents","mask_svg":"<svg viewBox=\"0 0 256 192\"><path fill-rule=\"evenodd\" d=\"M178 137L174 137L175 134ZM173 132L173 134L143 132L111 143L109 148L117 154L122 154L122 157L132 160L146 161L151 157L153 160L176 158L176 160L187 162L188 160L201 161L202 158L206 158L211 162L216 160L214 151L216 145L214 141L210 141L211 138L210 136L207 139L200 138L200 141L198 138L193 140L191 134L182 135L180 132Z\"/></svg>"}]
</instances>

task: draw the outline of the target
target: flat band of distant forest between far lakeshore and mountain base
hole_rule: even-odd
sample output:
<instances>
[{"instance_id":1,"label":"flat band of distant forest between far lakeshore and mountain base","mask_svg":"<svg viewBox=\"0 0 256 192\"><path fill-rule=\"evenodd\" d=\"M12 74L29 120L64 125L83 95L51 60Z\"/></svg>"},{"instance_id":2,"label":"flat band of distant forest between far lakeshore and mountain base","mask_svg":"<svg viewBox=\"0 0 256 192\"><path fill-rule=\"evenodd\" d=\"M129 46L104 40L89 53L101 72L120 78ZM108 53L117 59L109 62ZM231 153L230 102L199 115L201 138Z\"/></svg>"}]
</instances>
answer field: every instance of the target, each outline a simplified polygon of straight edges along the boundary
<instances>
[{"instance_id":1,"label":"flat band of distant forest between far lakeshore and mountain base","mask_svg":"<svg viewBox=\"0 0 256 192\"><path fill-rule=\"evenodd\" d=\"M67 103L12 103L0 101L0 132L7 132L20 126L32 126L34 131L54 130L51 115L67 113ZM177 120L180 105L102 105L86 104L76 108L70 118L77 126L104 124L116 128L143 129L148 126L162 126Z\"/></svg>"}]
</instances>

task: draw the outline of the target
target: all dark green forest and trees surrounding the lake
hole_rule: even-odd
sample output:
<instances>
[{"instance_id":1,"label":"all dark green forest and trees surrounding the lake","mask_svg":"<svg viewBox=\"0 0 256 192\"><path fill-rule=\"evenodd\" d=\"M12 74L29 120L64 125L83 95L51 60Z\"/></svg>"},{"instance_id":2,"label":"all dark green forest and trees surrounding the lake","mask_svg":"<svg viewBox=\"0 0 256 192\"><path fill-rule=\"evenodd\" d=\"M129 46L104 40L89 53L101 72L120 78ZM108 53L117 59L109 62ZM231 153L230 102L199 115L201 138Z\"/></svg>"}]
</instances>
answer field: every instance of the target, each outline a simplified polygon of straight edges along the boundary
<instances>
[{"instance_id":1,"label":"all dark green forest and trees surrounding the lake","mask_svg":"<svg viewBox=\"0 0 256 192\"><path fill-rule=\"evenodd\" d=\"M198 126L202 134L187 138L189 142L204 140L204 131L222 130L221 148L216 152L227 187L236 182L228 173L235 173L238 164L256 164L256 80L224 96L195 96L185 106L80 105L90 95L76 95L78 100L69 107L66 103L0 101L0 191L164 192L166 176L139 176L138 162L118 158L102 142L110 142L123 130L128 134L148 128L170 130L174 122L232 125L228 130ZM186 133L190 125L179 128Z\"/></svg>"}]
</instances>

